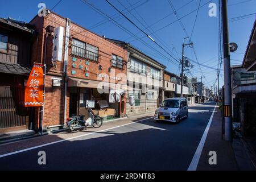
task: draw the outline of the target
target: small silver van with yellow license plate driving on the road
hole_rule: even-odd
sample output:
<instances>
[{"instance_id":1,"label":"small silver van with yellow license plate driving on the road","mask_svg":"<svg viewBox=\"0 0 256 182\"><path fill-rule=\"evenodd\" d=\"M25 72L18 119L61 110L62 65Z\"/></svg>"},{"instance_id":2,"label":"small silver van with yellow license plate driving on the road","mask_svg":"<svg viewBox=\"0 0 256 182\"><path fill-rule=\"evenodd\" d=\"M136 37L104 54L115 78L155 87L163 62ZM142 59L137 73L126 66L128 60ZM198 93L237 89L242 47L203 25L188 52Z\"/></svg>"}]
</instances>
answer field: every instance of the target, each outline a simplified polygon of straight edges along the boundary
<instances>
[{"instance_id":1,"label":"small silver van with yellow license plate driving on the road","mask_svg":"<svg viewBox=\"0 0 256 182\"><path fill-rule=\"evenodd\" d=\"M188 102L186 98L167 98L156 109L155 121L180 122L180 119L188 118Z\"/></svg>"}]
</instances>

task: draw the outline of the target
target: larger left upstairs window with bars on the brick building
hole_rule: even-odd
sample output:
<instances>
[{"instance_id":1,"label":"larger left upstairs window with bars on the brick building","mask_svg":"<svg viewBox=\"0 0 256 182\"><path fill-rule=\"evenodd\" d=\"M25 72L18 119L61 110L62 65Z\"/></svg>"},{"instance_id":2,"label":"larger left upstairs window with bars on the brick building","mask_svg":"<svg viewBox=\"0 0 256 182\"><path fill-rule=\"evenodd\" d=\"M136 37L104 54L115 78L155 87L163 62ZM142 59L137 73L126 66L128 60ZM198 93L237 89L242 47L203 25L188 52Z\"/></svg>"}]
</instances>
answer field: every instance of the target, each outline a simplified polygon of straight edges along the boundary
<instances>
[{"instance_id":1,"label":"larger left upstairs window with bars on the brick building","mask_svg":"<svg viewBox=\"0 0 256 182\"><path fill-rule=\"evenodd\" d=\"M79 40L72 40L72 55L98 61L98 48Z\"/></svg>"}]
</instances>

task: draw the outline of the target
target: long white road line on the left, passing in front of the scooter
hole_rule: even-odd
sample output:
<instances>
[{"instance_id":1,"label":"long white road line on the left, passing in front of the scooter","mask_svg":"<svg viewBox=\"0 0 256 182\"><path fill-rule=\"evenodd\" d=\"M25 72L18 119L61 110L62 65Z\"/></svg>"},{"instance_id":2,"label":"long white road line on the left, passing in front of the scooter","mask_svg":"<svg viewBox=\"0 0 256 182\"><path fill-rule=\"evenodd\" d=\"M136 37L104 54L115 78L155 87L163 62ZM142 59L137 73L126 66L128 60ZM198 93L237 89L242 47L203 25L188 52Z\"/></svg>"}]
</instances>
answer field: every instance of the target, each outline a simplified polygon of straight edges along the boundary
<instances>
[{"instance_id":1,"label":"long white road line on the left, passing in front of the scooter","mask_svg":"<svg viewBox=\"0 0 256 182\"><path fill-rule=\"evenodd\" d=\"M102 131L107 131L107 130L116 129L116 128L118 128L118 127L131 125L131 124L133 124L133 123L141 122L141 121L144 121L144 120L147 120L147 119L151 119L151 118L154 118L154 117L141 119L141 120L136 121L136 122L127 123L127 124L121 125L121 126L111 127L111 128L109 128L109 129L105 129L105 130L95 131L95 132L89 133L89 134L79 135L79 136L76 136L76 137L71 137L71 138L67 138L67 139L62 139L62 140L58 140L58 141L51 142L51 143L41 144L41 145L35 146L35 147L24 148L23 150L18 150L18 151L10 152L10 153L7 153L7 154L2 154L2 155L0 155L0 158L4 158L4 157L6 157L6 156L10 156L10 155L14 155L14 154L19 154L19 153L21 153L21 152L26 152L26 151L29 151L29 150L34 150L35 148L40 148L40 147L49 146L49 145L55 144L55 143L65 142L66 140L72 140L72 139L76 139L76 138L80 138L80 137L85 137L85 136L87 136L87 135L92 135L92 134L95 134L95 133L100 133L100 132L102 132Z\"/></svg>"}]
</instances>

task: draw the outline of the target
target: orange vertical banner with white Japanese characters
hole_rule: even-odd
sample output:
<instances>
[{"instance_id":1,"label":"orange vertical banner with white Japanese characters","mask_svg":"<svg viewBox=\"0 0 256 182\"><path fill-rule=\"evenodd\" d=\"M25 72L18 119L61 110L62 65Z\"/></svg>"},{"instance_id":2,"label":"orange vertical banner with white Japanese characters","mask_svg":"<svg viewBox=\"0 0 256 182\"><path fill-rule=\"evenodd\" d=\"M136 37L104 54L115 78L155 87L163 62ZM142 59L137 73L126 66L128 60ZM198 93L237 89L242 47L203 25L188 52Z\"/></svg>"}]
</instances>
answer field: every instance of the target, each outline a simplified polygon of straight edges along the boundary
<instances>
[{"instance_id":1,"label":"orange vertical banner with white Japanese characters","mask_svg":"<svg viewBox=\"0 0 256 182\"><path fill-rule=\"evenodd\" d=\"M25 89L25 107L43 106L44 64L35 63Z\"/></svg>"}]
</instances>

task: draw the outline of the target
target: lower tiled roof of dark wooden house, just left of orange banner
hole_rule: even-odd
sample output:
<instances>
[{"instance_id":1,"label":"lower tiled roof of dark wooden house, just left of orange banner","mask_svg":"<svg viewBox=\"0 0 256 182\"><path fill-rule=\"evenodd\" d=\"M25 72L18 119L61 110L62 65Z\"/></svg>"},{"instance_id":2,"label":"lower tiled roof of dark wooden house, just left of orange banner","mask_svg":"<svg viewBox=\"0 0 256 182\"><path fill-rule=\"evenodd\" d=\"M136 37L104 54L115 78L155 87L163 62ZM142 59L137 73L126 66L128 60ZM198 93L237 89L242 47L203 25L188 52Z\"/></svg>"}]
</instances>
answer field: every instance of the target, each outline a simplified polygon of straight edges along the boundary
<instances>
[{"instance_id":1,"label":"lower tiled roof of dark wooden house, just left of orange banner","mask_svg":"<svg viewBox=\"0 0 256 182\"><path fill-rule=\"evenodd\" d=\"M27 75L30 74L31 68L24 67L19 64L8 64L0 62L0 72L1 73L11 73L17 75Z\"/></svg>"}]
</instances>

